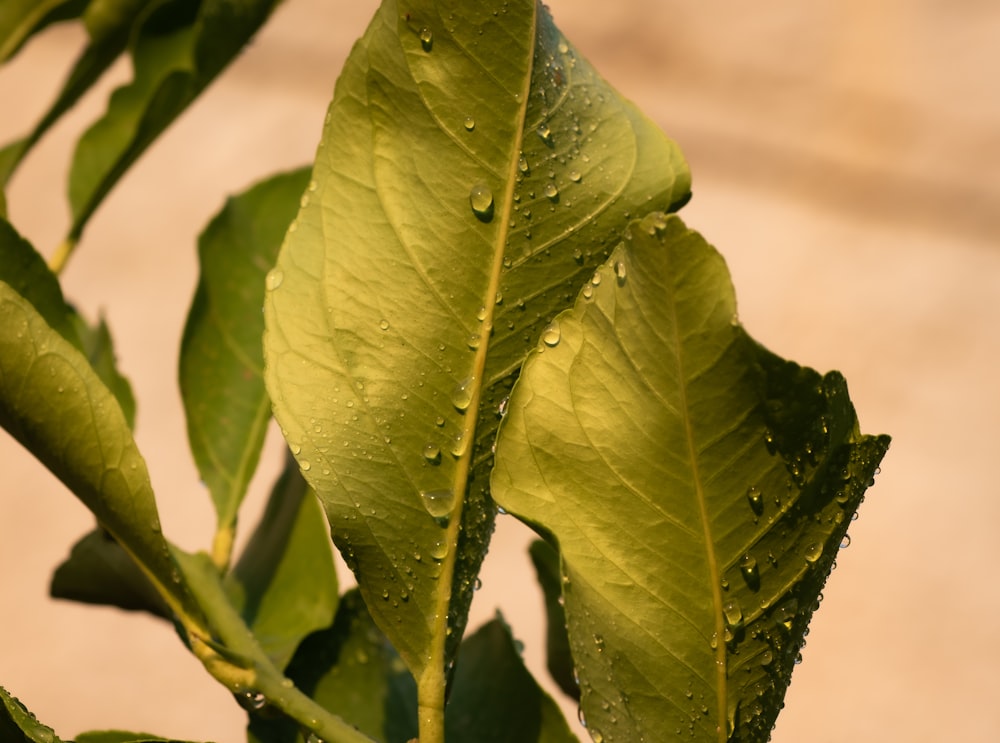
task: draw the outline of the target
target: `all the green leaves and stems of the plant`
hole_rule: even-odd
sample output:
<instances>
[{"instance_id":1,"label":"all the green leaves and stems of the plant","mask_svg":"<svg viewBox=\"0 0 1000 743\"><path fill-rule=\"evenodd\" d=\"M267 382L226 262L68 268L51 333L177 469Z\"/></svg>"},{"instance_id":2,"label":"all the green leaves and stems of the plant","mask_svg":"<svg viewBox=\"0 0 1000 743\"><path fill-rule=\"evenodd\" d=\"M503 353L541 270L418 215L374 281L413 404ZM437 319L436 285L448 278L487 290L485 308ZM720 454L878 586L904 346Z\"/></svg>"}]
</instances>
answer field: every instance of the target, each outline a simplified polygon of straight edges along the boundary
<instances>
[{"instance_id":1,"label":"all the green leaves and stems of the plant","mask_svg":"<svg viewBox=\"0 0 1000 743\"><path fill-rule=\"evenodd\" d=\"M575 740L501 617L466 633L502 510L541 537L549 668L595 741L766 740L888 438L860 433L839 374L745 332L721 256L673 213L676 145L540 4L494 4L385 0L313 166L202 234L180 364L217 514L197 554L163 535L110 333L57 275L273 3L0 16L3 58L56 21L90 38L0 183L118 55L136 69L80 139L51 267L0 221L0 424L98 521L53 594L171 620L259 743ZM234 556L272 412L290 455ZM4 740L54 739L0 700Z\"/></svg>"}]
</instances>

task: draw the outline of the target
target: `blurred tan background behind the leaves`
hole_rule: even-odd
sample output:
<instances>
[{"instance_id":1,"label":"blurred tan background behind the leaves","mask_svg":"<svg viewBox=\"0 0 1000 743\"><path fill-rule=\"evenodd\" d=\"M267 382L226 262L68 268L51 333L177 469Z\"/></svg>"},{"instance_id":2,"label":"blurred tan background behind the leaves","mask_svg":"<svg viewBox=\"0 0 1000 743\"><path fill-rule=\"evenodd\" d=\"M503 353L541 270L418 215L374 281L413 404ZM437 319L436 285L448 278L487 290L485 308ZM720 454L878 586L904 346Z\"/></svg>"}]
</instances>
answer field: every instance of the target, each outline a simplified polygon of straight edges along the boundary
<instances>
[{"instance_id":1,"label":"blurred tan background behind the leaves","mask_svg":"<svg viewBox=\"0 0 1000 743\"><path fill-rule=\"evenodd\" d=\"M750 332L843 371L864 430L894 437L773 740L997 740L1000 5L550 5L684 148L695 192L684 216L727 257ZM85 314L108 317L165 531L183 547L207 546L212 519L175 381L195 237L225 194L311 159L373 8L287 0L112 194L65 273ZM54 29L0 70L0 141L34 121L80 43ZM116 68L13 184L11 217L46 255L66 228L72 142L127 76ZM280 443L270 451L273 462ZM170 628L47 598L90 517L5 434L0 473L0 683L64 737L118 727L242 740L242 711ZM473 625L502 605L538 669L528 538L508 520L499 528Z\"/></svg>"}]
</instances>

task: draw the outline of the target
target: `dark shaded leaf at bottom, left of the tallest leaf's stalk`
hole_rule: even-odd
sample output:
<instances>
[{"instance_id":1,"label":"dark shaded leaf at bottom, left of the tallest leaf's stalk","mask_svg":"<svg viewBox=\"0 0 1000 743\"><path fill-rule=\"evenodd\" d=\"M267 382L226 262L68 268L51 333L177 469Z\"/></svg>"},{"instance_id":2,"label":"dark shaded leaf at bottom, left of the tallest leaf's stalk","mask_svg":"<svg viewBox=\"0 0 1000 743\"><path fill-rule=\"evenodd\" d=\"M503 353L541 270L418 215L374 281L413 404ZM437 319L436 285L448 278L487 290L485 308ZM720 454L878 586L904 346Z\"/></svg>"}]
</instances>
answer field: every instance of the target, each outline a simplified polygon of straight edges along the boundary
<instances>
[{"instance_id":1,"label":"dark shaded leaf at bottom, left of the tallest leaf's stalk","mask_svg":"<svg viewBox=\"0 0 1000 743\"><path fill-rule=\"evenodd\" d=\"M310 635L288 666L295 685L377 741L417 735L413 677L372 622L357 590L340 601L333 625ZM305 743L290 720L251 718L251 743Z\"/></svg>"}]
</instances>

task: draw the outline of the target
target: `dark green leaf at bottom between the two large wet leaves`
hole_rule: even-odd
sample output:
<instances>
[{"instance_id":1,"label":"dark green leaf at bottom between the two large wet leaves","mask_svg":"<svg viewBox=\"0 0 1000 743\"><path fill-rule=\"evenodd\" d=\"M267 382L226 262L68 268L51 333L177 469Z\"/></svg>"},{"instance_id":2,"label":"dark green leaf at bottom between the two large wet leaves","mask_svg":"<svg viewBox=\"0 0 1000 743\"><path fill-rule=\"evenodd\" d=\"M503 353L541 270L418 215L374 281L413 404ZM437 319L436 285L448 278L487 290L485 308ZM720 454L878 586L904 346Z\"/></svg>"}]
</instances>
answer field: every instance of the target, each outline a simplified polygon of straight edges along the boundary
<instances>
[{"instance_id":1,"label":"dark green leaf at bottom between the two large wet leaves","mask_svg":"<svg viewBox=\"0 0 1000 743\"><path fill-rule=\"evenodd\" d=\"M446 716L449 743L577 741L499 615L463 643Z\"/></svg>"}]
</instances>

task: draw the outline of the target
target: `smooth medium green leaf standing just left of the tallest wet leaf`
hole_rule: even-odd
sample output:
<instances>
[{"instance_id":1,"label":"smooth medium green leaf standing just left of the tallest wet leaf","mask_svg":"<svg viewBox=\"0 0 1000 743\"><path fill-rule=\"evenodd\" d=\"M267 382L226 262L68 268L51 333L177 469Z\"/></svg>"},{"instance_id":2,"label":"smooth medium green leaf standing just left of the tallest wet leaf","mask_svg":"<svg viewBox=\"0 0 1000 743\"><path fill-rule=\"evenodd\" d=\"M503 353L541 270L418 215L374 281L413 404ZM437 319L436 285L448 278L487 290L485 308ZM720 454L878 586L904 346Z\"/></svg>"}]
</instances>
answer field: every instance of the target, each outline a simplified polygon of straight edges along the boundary
<instances>
[{"instance_id":1,"label":"smooth medium green leaf standing just left of the tallest wet leaf","mask_svg":"<svg viewBox=\"0 0 1000 743\"><path fill-rule=\"evenodd\" d=\"M264 276L309 181L274 176L229 199L198 240L201 279L181 344L191 451L220 529L231 530L257 468L271 403L264 389Z\"/></svg>"}]
</instances>

